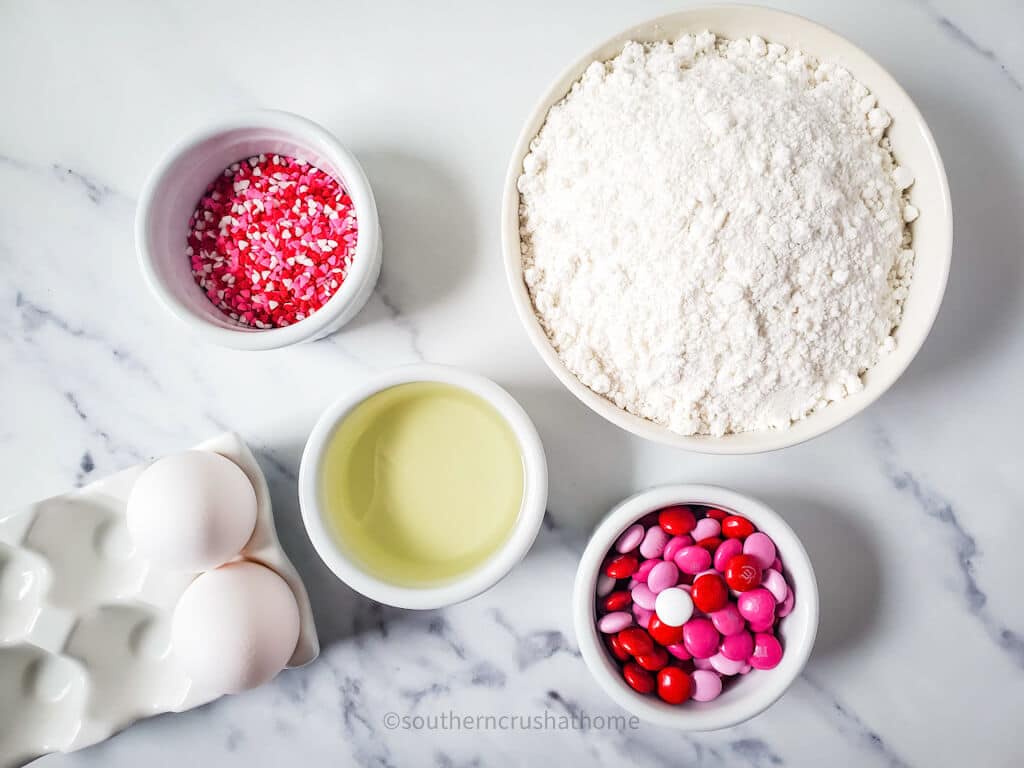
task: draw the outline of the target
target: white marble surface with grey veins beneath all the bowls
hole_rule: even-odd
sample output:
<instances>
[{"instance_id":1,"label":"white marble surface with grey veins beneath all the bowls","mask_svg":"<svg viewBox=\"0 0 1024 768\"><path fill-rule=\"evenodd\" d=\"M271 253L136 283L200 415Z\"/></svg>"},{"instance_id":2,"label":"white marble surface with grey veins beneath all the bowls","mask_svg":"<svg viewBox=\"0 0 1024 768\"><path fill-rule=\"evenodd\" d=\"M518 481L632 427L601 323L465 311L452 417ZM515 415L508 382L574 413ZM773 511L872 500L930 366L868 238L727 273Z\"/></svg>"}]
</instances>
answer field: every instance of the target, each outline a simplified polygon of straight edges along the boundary
<instances>
[{"instance_id":1,"label":"white marble surface with grey veins beneath all the bowls","mask_svg":"<svg viewBox=\"0 0 1024 768\"><path fill-rule=\"evenodd\" d=\"M8 506L225 428L257 451L325 644L312 666L159 717L47 768L243 765L1017 766L1024 762L1024 8L790 2L877 56L943 153L955 255L903 379L809 444L700 457L632 439L578 404L528 345L500 263L508 153L579 51L676 2L0 2L0 477ZM215 6L215 7L214 7ZM343 333L280 352L199 346L135 268L134 199L208 116L253 105L323 122L365 163L384 272ZM295 473L317 413L369 372L465 366L518 396L546 441L550 524L489 593L425 613L327 573ZM729 731L408 732L440 716L617 711L568 614L593 522L655 482L732 485L804 538L819 641L775 707Z\"/></svg>"}]
</instances>

